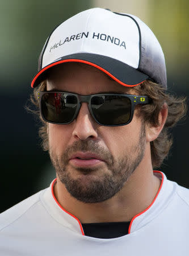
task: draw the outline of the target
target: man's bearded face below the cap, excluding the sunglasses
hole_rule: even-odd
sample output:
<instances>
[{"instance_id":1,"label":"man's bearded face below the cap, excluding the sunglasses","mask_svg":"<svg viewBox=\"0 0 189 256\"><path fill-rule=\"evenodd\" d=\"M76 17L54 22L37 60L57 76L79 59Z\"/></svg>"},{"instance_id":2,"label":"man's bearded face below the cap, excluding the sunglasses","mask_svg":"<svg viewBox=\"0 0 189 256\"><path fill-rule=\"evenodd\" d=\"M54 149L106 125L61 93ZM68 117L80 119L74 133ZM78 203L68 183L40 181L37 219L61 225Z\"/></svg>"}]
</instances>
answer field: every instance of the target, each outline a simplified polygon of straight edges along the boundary
<instances>
[{"instance_id":1,"label":"man's bearded face below the cap, excluding the sunglasses","mask_svg":"<svg viewBox=\"0 0 189 256\"><path fill-rule=\"evenodd\" d=\"M85 64L56 67L47 90L82 95L96 93L135 94L103 72ZM49 154L57 179L75 199L99 203L120 191L145 154L145 125L137 112L125 126L102 126L95 122L86 102L68 125L48 123ZM81 159L82 158L82 159Z\"/></svg>"}]
</instances>

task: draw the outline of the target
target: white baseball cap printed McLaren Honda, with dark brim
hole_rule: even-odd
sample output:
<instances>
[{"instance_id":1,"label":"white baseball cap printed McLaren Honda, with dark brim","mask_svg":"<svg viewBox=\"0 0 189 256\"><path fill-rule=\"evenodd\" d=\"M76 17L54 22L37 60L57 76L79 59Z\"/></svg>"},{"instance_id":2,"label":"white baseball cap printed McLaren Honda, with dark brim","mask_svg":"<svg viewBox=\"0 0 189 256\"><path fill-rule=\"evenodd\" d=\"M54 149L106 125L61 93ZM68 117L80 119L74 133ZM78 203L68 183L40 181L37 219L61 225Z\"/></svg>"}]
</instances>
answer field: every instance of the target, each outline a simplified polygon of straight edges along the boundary
<instances>
[{"instance_id":1,"label":"white baseball cap printed McLaren Honda, with dark brim","mask_svg":"<svg viewBox=\"0 0 189 256\"><path fill-rule=\"evenodd\" d=\"M131 14L94 8L61 23L45 42L31 86L39 85L55 65L74 61L92 65L124 86L146 79L167 86L162 48L150 28Z\"/></svg>"}]
</instances>

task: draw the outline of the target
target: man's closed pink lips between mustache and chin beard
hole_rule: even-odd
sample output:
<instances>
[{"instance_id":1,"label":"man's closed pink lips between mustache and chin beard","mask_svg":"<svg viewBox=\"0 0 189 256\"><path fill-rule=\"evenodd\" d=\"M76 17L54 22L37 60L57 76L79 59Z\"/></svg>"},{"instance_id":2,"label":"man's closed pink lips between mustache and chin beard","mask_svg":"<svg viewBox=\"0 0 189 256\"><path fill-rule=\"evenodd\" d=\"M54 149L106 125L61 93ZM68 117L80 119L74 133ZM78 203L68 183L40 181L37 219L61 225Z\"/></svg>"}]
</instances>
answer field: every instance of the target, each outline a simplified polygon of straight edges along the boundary
<instances>
[{"instance_id":1,"label":"man's closed pink lips between mustache and chin beard","mask_svg":"<svg viewBox=\"0 0 189 256\"><path fill-rule=\"evenodd\" d=\"M103 163L104 160L91 152L77 152L70 157L69 162L75 167L82 168L92 167L95 164Z\"/></svg>"}]
</instances>

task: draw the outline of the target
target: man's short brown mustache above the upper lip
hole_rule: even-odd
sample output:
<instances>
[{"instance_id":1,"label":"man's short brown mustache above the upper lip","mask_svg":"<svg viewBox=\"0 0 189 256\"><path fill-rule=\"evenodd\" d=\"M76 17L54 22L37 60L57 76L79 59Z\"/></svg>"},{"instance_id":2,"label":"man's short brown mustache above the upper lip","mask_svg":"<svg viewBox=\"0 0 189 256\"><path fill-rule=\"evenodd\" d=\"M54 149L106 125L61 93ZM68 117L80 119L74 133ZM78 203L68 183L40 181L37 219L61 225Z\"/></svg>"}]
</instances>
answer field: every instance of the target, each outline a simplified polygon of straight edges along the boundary
<instances>
[{"instance_id":1,"label":"man's short brown mustache above the upper lip","mask_svg":"<svg viewBox=\"0 0 189 256\"><path fill-rule=\"evenodd\" d=\"M114 164L114 157L108 148L104 148L98 142L95 141L75 141L72 145L68 146L62 155L62 160L65 164L68 164L70 156L72 156L75 152L91 152L96 155L99 155L108 166L112 166Z\"/></svg>"}]
</instances>

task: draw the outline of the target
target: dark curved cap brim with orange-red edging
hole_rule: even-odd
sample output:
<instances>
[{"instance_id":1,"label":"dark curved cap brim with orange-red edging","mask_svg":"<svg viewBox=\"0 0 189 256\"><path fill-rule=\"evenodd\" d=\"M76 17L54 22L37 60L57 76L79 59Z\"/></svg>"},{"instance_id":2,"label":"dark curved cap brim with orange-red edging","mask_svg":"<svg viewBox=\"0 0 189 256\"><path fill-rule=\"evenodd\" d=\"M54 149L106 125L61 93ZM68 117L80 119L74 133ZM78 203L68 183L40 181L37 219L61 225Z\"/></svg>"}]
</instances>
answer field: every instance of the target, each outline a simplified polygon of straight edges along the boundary
<instances>
[{"instance_id":1,"label":"dark curved cap brim with orange-red edging","mask_svg":"<svg viewBox=\"0 0 189 256\"><path fill-rule=\"evenodd\" d=\"M67 55L61 58L58 58L53 63L48 64L42 68L36 76L33 78L31 86L35 88L43 80L47 78L47 73L49 69L55 65L66 63L66 62L79 62L91 65L95 68L100 69L116 82L124 86L133 87L138 84L141 84L149 77L144 73L141 73L137 69L130 67L129 65L112 59L111 57L96 55L92 53L75 53L72 55Z\"/></svg>"}]
</instances>

